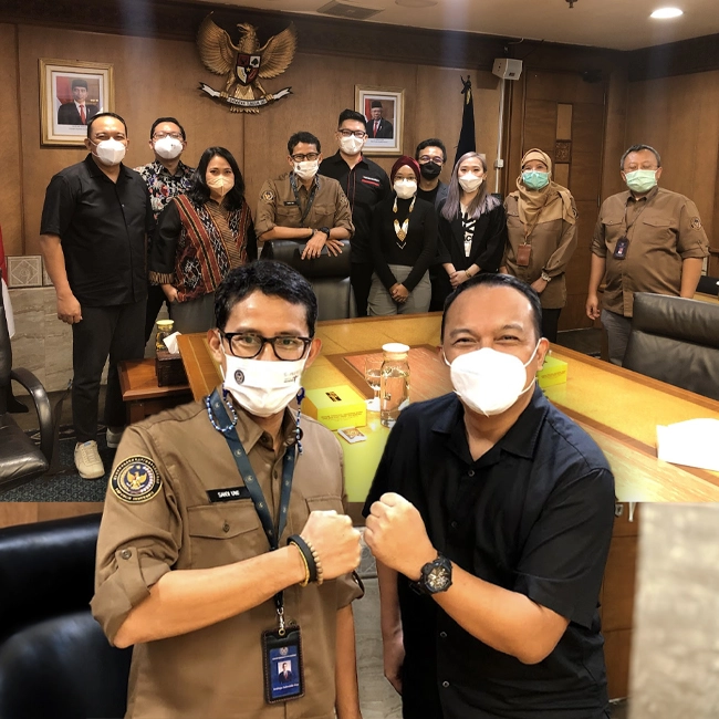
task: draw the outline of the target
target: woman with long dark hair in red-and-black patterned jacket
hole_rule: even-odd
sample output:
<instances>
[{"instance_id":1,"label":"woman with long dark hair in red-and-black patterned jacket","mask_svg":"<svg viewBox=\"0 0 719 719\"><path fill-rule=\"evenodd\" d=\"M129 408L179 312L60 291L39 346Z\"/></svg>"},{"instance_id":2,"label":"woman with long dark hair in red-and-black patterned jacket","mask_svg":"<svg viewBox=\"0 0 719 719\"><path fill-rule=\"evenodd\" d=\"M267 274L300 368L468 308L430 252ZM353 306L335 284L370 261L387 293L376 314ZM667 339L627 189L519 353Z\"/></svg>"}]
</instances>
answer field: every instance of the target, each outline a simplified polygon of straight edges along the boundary
<instances>
[{"instance_id":1,"label":"woman with long dark hair in red-and-black patterned jacket","mask_svg":"<svg viewBox=\"0 0 719 719\"><path fill-rule=\"evenodd\" d=\"M215 290L231 269L254 259L242 173L225 147L208 147L187 195L173 198L159 216L149 260L149 278L167 295L175 330L213 326Z\"/></svg>"}]
</instances>

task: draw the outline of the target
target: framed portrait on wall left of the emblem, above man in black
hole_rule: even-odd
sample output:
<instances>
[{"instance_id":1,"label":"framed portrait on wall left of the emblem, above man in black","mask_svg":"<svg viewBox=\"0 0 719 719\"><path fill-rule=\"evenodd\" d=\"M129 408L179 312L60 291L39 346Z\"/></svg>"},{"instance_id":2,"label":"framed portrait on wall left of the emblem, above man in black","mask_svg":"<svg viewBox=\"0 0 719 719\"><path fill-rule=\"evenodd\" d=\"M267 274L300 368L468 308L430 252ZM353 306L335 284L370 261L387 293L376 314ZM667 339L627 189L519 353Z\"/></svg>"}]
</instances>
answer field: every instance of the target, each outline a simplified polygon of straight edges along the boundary
<instances>
[{"instance_id":1,"label":"framed portrait on wall left of the emblem, above man in black","mask_svg":"<svg viewBox=\"0 0 719 719\"><path fill-rule=\"evenodd\" d=\"M82 145L87 123L114 110L113 66L98 62L40 59L42 144Z\"/></svg>"}]
</instances>

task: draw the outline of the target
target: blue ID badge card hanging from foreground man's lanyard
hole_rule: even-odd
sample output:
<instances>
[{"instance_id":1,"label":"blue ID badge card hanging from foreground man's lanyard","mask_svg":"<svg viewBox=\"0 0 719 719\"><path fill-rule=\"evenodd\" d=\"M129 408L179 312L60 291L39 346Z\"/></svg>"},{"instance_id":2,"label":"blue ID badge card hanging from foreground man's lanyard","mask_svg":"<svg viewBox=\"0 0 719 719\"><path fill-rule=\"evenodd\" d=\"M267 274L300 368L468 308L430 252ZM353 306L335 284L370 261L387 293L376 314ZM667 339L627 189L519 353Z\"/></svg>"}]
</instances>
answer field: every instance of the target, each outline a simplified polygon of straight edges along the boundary
<instances>
[{"instance_id":1,"label":"blue ID badge card hanging from foreground man's lanyard","mask_svg":"<svg viewBox=\"0 0 719 719\"><path fill-rule=\"evenodd\" d=\"M296 624L262 633L262 663L264 665L264 700L278 704L304 696L302 637Z\"/></svg>"}]
</instances>

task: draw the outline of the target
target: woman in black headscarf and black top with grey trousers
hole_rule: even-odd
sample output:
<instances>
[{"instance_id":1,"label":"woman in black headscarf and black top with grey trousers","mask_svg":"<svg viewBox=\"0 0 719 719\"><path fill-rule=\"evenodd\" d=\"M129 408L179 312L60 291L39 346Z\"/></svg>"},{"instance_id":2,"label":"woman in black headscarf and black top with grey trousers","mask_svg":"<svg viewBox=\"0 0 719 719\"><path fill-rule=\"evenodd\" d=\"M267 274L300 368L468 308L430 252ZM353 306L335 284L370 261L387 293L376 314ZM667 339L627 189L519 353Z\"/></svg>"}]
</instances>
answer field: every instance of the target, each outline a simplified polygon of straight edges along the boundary
<instances>
[{"instance_id":1,"label":"woman in black headscarf and black top with grey trousers","mask_svg":"<svg viewBox=\"0 0 719 719\"><path fill-rule=\"evenodd\" d=\"M389 174L394 192L375 205L369 315L427 312L431 299L429 265L437 247L435 206L417 197L419 165L403 156Z\"/></svg>"}]
</instances>

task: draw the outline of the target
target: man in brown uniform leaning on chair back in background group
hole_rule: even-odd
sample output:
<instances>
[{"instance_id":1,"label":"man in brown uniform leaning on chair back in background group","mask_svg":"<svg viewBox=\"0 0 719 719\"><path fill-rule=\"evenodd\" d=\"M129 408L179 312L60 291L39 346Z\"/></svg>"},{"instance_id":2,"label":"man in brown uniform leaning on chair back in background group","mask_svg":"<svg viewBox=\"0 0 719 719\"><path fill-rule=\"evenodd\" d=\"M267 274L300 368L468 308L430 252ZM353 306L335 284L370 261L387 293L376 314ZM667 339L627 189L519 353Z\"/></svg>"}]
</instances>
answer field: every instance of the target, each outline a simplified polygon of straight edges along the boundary
<instances>
[{"instance_id":1,"label":"man in brown uniform leaning on chair back in background group","mask_svg":"<svg viewBox=\"0 0 719 719\"><path fill-rule=\"evenodd\" d=\"M337 180L317 175L322 152L311 133L295 133L288 142L292 170L269 179L260 190L254 231L260 242L296 240L305 243L302 259L342 252L342 240L354 233L352 209Z\"/></svg>"}]
</instances>

